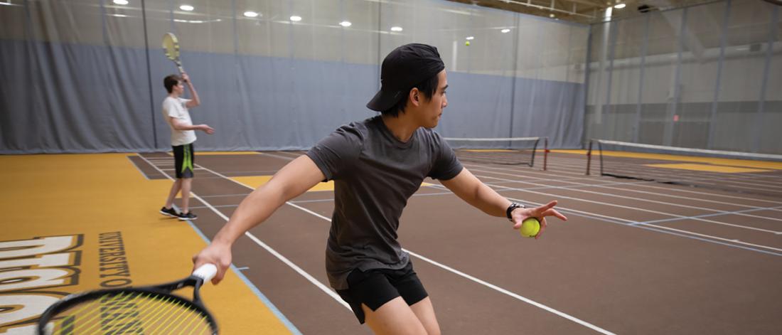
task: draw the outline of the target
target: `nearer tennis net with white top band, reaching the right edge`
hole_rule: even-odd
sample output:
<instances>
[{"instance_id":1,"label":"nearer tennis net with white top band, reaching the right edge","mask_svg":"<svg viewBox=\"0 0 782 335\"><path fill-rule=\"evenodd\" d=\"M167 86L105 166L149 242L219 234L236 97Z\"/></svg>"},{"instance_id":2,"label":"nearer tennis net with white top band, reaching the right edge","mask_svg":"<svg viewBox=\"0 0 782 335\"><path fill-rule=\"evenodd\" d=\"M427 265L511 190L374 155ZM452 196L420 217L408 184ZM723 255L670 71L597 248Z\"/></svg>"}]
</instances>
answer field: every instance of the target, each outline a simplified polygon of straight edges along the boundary
<instances>
[{"instance_id":1,"label":"nearer tennis net with white top band, reaching the right edge","mask_svg":"<svg viewBox=\"0 0 782 335\"><path fill-rule=\"evenodd\" d=\"M587 175L782 196L782 155L691 149L593 139Z\"/></svg>"}]
</instances>

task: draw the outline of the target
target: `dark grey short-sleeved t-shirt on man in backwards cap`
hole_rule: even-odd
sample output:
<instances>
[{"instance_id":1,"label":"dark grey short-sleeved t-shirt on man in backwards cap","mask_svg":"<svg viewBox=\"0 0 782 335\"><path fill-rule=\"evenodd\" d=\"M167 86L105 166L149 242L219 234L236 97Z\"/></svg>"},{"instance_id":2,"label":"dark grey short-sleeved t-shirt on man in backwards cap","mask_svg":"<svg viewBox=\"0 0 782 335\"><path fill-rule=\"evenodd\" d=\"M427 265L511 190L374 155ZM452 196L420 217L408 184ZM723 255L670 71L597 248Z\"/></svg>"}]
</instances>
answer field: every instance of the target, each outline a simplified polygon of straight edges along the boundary
<instances>
[{"instance_id":1,"label":"dark grey short-sleeved t-shirt on man in backwards cap","mask_svg":"<svg viewBox=\"0 0 782 335\"><path fill-rule=\"evenodd\" d=\"M326 272L335 290L347 288L355 268L404 268L409 256L396 240L396 229L407 199L424 178L447 180L462 169L435 131L418 128L401 142L379 116L343 125L307 156L335 183L326 245Z\"/></svg>"}]
</instances>

